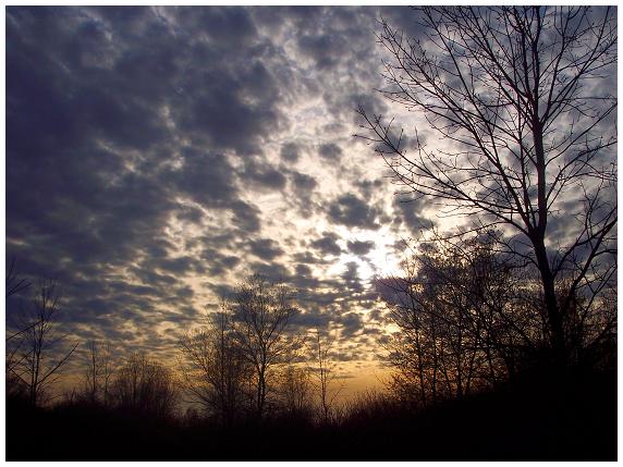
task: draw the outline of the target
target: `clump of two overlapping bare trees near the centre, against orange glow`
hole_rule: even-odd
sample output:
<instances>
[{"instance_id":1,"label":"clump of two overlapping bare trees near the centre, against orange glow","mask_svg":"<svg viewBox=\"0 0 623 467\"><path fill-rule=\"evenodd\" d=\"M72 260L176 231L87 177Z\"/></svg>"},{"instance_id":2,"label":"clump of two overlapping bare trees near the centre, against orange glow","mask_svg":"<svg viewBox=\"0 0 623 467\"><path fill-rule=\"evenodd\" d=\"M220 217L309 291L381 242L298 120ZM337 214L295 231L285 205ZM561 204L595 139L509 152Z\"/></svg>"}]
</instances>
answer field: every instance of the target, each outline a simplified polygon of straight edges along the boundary
<instances>
[{"instance_id":1,"label":"clump of two overlapping bare trees near the centre, against orange glow","mask_svg":"<svg viewBox=\"0 0 623 467\"><path fill-rule=\"evenodd\" d=\"M305 395L295 394L305 392L295 386L302 374L292 368L280 374L303 343L289 329L297 312L293 299L284 284L252 275L222 300L219 312L182 339L183 379L193 402L230 423L252 413L261 419L269 391L276 392L271 403L278 404L283 377L288 405L302 408Z\"/></svg>"}]
</instances>

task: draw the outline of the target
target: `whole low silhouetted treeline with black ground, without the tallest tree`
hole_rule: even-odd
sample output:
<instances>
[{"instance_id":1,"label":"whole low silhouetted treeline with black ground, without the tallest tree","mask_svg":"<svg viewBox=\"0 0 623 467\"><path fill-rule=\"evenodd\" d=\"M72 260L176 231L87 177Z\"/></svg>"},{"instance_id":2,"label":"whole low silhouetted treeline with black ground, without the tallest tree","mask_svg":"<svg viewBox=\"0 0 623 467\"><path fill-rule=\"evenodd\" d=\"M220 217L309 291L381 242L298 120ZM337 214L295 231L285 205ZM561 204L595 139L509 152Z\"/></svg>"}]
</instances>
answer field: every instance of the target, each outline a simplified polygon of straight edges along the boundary
<instances>
[{"instance_id":1,"label":"whole low silhouetted treeline with black ground, without the tallest tree","mask_svg":"<svg viewBox=\"0 0 623 467\"><path fill-rule=\"evenodd\" d=\"M181 340L175 371L91 341L82 381L56 403L49 393L33 400L27 367L8 378L8 458L615 458L613 303L578 297L565 325L574 358L561 369L538 287L487 236L437 239L403 266L381 283L398 330L386 343L394 369L387 391L334 404L330 340L316 330L313 360L301 360L294 296L252 276ZM8 376L20 371L9 362ZM34 429L45 433L37 450Z\"/></svg>"}]
</instances>

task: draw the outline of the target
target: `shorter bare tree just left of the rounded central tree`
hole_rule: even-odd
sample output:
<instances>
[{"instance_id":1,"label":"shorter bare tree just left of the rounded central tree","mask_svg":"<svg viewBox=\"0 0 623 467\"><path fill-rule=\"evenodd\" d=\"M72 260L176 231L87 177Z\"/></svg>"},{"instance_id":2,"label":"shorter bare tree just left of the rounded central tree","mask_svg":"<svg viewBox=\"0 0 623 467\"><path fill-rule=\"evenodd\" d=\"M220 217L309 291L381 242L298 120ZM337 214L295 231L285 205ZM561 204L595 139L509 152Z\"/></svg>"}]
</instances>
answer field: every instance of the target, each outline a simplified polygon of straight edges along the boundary
<instances>
[{"instance_id":1,"label":"shorter bare tree just left of the rounded central tree","mask_svg":"<svg viewBox=\"0 0 623 467\"><path fill-rule=\"evenodd\" d=\"M180 341L182 378L192 402L231 423L247 407L252 368L235 340L231 310L209 314Z\"/></svg>"}]
</instances>

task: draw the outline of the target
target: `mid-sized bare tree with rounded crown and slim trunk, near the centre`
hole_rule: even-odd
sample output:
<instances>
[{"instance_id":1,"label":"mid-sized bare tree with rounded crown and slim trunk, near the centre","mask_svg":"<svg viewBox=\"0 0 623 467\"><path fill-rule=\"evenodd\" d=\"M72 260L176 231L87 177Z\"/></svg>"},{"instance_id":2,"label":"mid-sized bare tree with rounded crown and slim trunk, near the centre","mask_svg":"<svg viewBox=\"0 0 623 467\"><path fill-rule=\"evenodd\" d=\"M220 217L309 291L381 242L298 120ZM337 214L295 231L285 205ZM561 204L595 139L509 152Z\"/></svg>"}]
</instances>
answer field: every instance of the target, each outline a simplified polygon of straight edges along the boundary
<instances>
[{"instance_id":1,"label":"mid-sized bare tree with rounded crown and slim trunk, near the centre","mask_svg":"<svg viewBox=\"0 0 623 467\"><path fill-rule=\"evenodd\" d=\"M227 306L233 314L236 345L255 371L255 406L257 417L261 418L271 370L292 361L303 343L289 332L297 312L294 294L286 285L270 283L255 274L237 287Z\"/></svg>"}]
</instances>

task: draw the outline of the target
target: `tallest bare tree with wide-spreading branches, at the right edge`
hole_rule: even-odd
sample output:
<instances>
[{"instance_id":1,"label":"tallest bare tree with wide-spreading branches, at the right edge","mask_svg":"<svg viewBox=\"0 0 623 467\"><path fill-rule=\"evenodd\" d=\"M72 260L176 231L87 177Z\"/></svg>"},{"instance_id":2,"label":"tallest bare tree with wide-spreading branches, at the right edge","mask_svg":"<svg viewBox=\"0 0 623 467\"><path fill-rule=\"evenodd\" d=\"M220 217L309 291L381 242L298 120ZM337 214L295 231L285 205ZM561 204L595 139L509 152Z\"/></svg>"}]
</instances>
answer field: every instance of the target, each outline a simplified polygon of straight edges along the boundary
<instances>
[{"instance_id":1,"label":"tallest bare tree with wide-spreading branches, at the right edge","mask_svg":"<svg viewBox=\"0 0 623 467\"><path fill-rule=\"evenodd\" d=\"M417 9L423 37L382 21L392 102L438 137L359 114L363 135L412 199L500 228L499 245L539 272L554 361L569 358L573 297L593 300L616 269L616 11L585 7ZM571 278L564 293L557 280Z\"/></svg>"}]
</instances>

